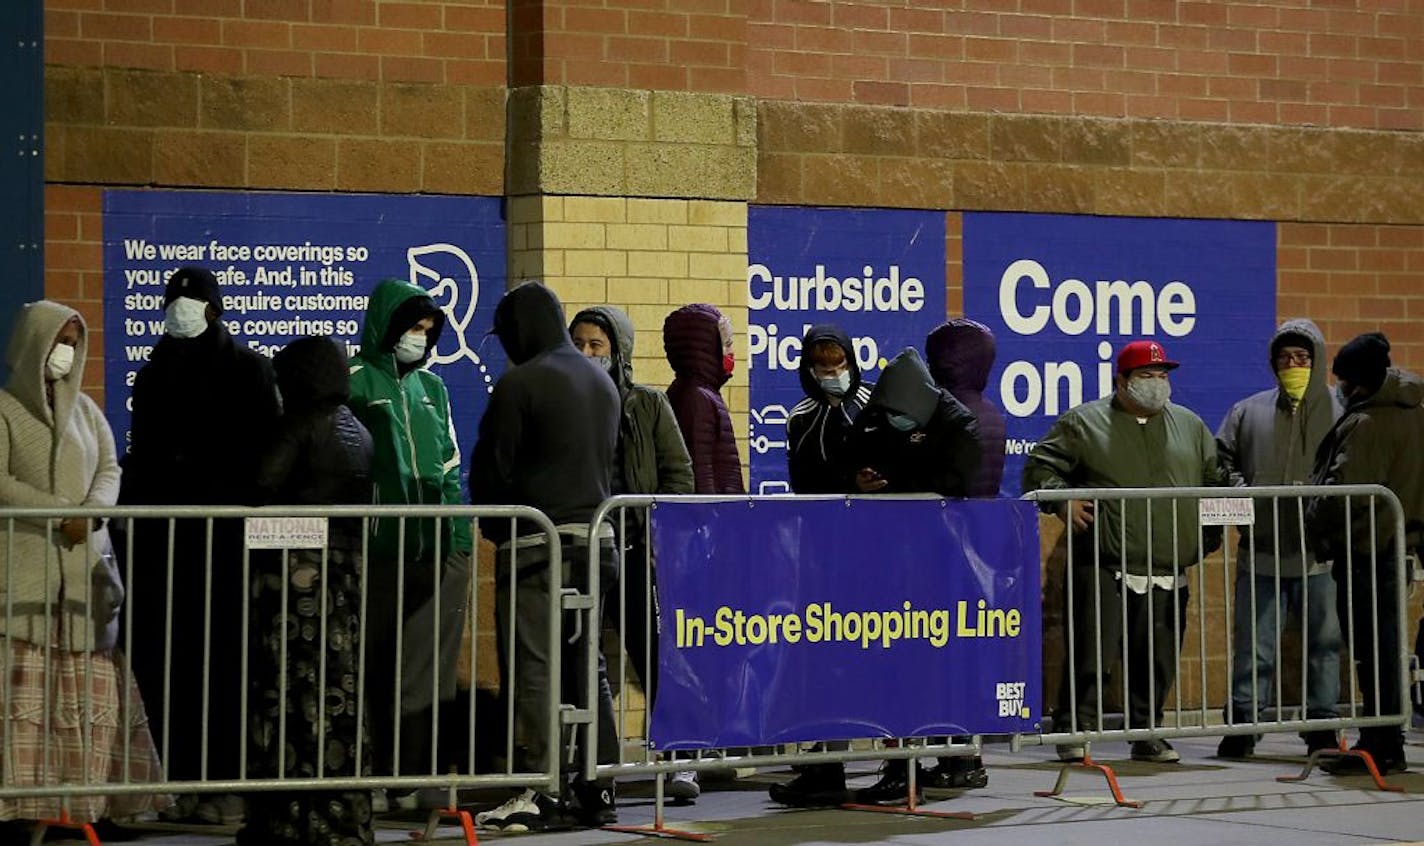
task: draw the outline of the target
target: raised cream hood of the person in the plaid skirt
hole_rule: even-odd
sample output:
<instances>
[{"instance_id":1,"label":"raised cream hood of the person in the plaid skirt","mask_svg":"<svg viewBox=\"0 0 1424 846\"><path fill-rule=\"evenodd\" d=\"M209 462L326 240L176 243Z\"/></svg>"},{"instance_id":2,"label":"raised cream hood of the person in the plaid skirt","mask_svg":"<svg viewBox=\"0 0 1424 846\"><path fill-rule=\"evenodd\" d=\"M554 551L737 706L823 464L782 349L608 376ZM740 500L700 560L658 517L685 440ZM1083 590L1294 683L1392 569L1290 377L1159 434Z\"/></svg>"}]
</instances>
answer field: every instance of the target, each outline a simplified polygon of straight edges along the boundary
<instances>
[{"instance_id":1,"label":"raised cream hood of the person in the plaid skirt","mask_svg":"<svg viewBox=\"0 0 1424 846\"><path fill-rule=\"evenodd\" d=\"M71 318L78 318L80 342L74 348L74 366L68 375L54 382L54 412L50 412L50 400L44 392L44 363L54 349L54 339L60 336ZM51 299L28 302L20 306L20 313L14 318L10 330L10 348L6 362L10 365L10 379L6 390L14 395L30 412L50 426L63 423L80 393L84 380L84 359L88 355L88 326L84 318L67 305Z\"/></svg>"}]
</instances>

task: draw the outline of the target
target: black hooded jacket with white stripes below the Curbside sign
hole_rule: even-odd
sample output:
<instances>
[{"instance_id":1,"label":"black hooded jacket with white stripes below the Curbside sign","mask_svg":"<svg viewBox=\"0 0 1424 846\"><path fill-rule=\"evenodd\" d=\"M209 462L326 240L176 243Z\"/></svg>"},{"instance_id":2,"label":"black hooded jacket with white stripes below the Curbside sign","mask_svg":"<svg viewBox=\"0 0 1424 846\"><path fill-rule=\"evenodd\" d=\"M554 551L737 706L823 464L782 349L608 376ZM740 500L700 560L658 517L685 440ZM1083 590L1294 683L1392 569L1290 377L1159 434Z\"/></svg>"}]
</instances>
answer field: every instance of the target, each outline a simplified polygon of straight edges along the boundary
<instances>
[{"instance_id":1,"label":"black hooded jacket with white stripes below the Curbside sign","mask_svg":"<svg viewBox=\"0 0 1424 846\"><path fill-rule=\"evenodd\" d=\"M846 352L846 369L850 373L850 387L840 403L832 404L812 373L812 360L806 355L810 346L820 340L834 340ZM806 330L802 338L802 357L796 367L806 399L792 407L786 416L786 469L792 491L799 494L853 493L846 487L846 440L856 416L870 402L874 385L860 379L860 365L850 336L833 323L819 323Z\"/></svg>"}]
</instances>

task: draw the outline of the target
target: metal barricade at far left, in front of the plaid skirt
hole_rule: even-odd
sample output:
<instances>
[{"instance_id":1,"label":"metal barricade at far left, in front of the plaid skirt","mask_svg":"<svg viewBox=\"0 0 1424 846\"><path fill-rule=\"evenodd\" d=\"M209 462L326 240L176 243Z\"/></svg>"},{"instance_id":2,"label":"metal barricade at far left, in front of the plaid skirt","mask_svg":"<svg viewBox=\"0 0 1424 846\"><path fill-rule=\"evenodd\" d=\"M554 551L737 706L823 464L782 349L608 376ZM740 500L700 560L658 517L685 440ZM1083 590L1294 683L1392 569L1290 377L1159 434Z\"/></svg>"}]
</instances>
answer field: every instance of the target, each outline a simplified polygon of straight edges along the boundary
<instances>
[{"instance_id":1,"label":"metal barricade at far left, in front of the plaid skirt","mask_svg":"<svg viewBox=\"0 0 1424 846\"><path fill-rule=\"evenodd\" d=\"M83 540L67 545L58 538L71 520L90 530L68 524ZM543 638L557 644L565 563L555 527L528 507L0 510L6 553L0 748L9 755L13 743L33 742L30 753L38 762L24 766L17 782L0 783L0 799L58 798L67 816L85 796L158 796L162 805L174 795L440 788L450 792L453 806L454 790L464 788L557 792L562 731L557 686L538 704L520 704L524 712L541 711L543 719L531 722L541 724L538 745L547 751L541 765L521 768L514 696L503 708L503 748L477 748L478 726L500 715L477 712L471 649L463 721L468 736L461 749L441 735L441 708L451 708L454 674L464 669L453 659L451 631L459 651L466 615L480 607L476 565L444 548L444 530L459 521L515 538L496 553L497 591L508 604L503 620L510 627L517 625L521 590L515 553L530 543L545 544L541 567L548 591L530 601L547 605ZM110 530L122 536L117 547L110 545ZM51 553L44 561L17 558L16 544L27 548L26 534L46 540ZM70 553L83 561L83 585L66 558ZM124 591L121 607L110 611L121 611L122 637L111 651L95 649L103 645L94 642L103 634L98 621L107 622L98 614L117 590ZM451 615L460 615L454 628ZM523 669L513 659L514 631L501 637L501 675L510 686L517 686ZM429 654L420 642L430 644ZM333 655L349 655L350 672L329 665L346 659ZM548 655L553 678L561 671L560 658L558 649ZM68 667L80 668L77 682L54 675ZM10 718L21 711L11 708L17 701L26 714L40 715L38 729ZM60 705L78 716L57 714ZM95 738L95 715L110 706L118 709L121 736ZM460 725L446 716L446 726ZM337 719L350 738L330 736L336 729L329 721ZM78 733L57 733L56 721L77 724ZM157 731L148 731L150 722ZM370 735L375 725L389 726L390 735ZM107 756L107 776L97 776L93 766L75 776L61 753L85 762ZM503 758L503 765L481 772L476 765L481 758ZM9 762L7 772L20 769Z\"/></svg>"}]
</instances>

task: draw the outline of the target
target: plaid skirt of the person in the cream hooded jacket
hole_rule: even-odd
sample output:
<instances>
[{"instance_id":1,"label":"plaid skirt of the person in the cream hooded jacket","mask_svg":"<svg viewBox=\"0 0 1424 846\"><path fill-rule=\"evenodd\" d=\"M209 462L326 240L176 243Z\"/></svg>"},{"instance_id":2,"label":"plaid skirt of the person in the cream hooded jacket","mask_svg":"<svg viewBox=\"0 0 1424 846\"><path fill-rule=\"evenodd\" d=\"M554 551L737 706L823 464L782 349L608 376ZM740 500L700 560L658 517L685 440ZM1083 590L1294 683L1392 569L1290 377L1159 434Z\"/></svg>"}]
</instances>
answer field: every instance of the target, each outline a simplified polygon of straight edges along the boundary
<instances>
[{"instance_id":1,"label":"plaid skirt of the person in the cream hooded jacket","mask_svg":"<svg viewBox=\"0 0 1424 846\"><path fill-rule=\"evenodd\" d=\"M48 657L46 655L48 654ZM66 652L0 637L3 785L161 782L144 701L121 655ZM167 808L152 793L0 799L0 820L124 819Z\"/></svg>"}]
</instances>

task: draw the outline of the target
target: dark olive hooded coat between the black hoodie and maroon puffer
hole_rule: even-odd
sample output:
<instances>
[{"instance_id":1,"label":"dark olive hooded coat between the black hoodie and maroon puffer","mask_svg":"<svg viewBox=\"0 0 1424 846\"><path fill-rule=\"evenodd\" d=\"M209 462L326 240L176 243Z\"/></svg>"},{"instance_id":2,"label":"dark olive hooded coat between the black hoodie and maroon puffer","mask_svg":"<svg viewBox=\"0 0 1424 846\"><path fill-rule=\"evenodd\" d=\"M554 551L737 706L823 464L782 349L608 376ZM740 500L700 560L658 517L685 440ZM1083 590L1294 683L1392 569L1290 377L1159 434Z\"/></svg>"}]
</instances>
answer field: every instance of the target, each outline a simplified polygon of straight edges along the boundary
<instances>
[{"instance_id":1,"label":"dark olive hooded coat between the black hoodie and maroon puffer","mask_svg":"<svg viewBox=\"0 0 1424 846\"><path fill-rule=\"evenodd\" d=\"M635 330L628 313L617 306L594 306L578 312L570 329L584 322L600 326L614 348L611 375L622 397L622 490L632 494L692 493L692 459L668 395L632 380Z\"/></svg>"}]
</instances>

